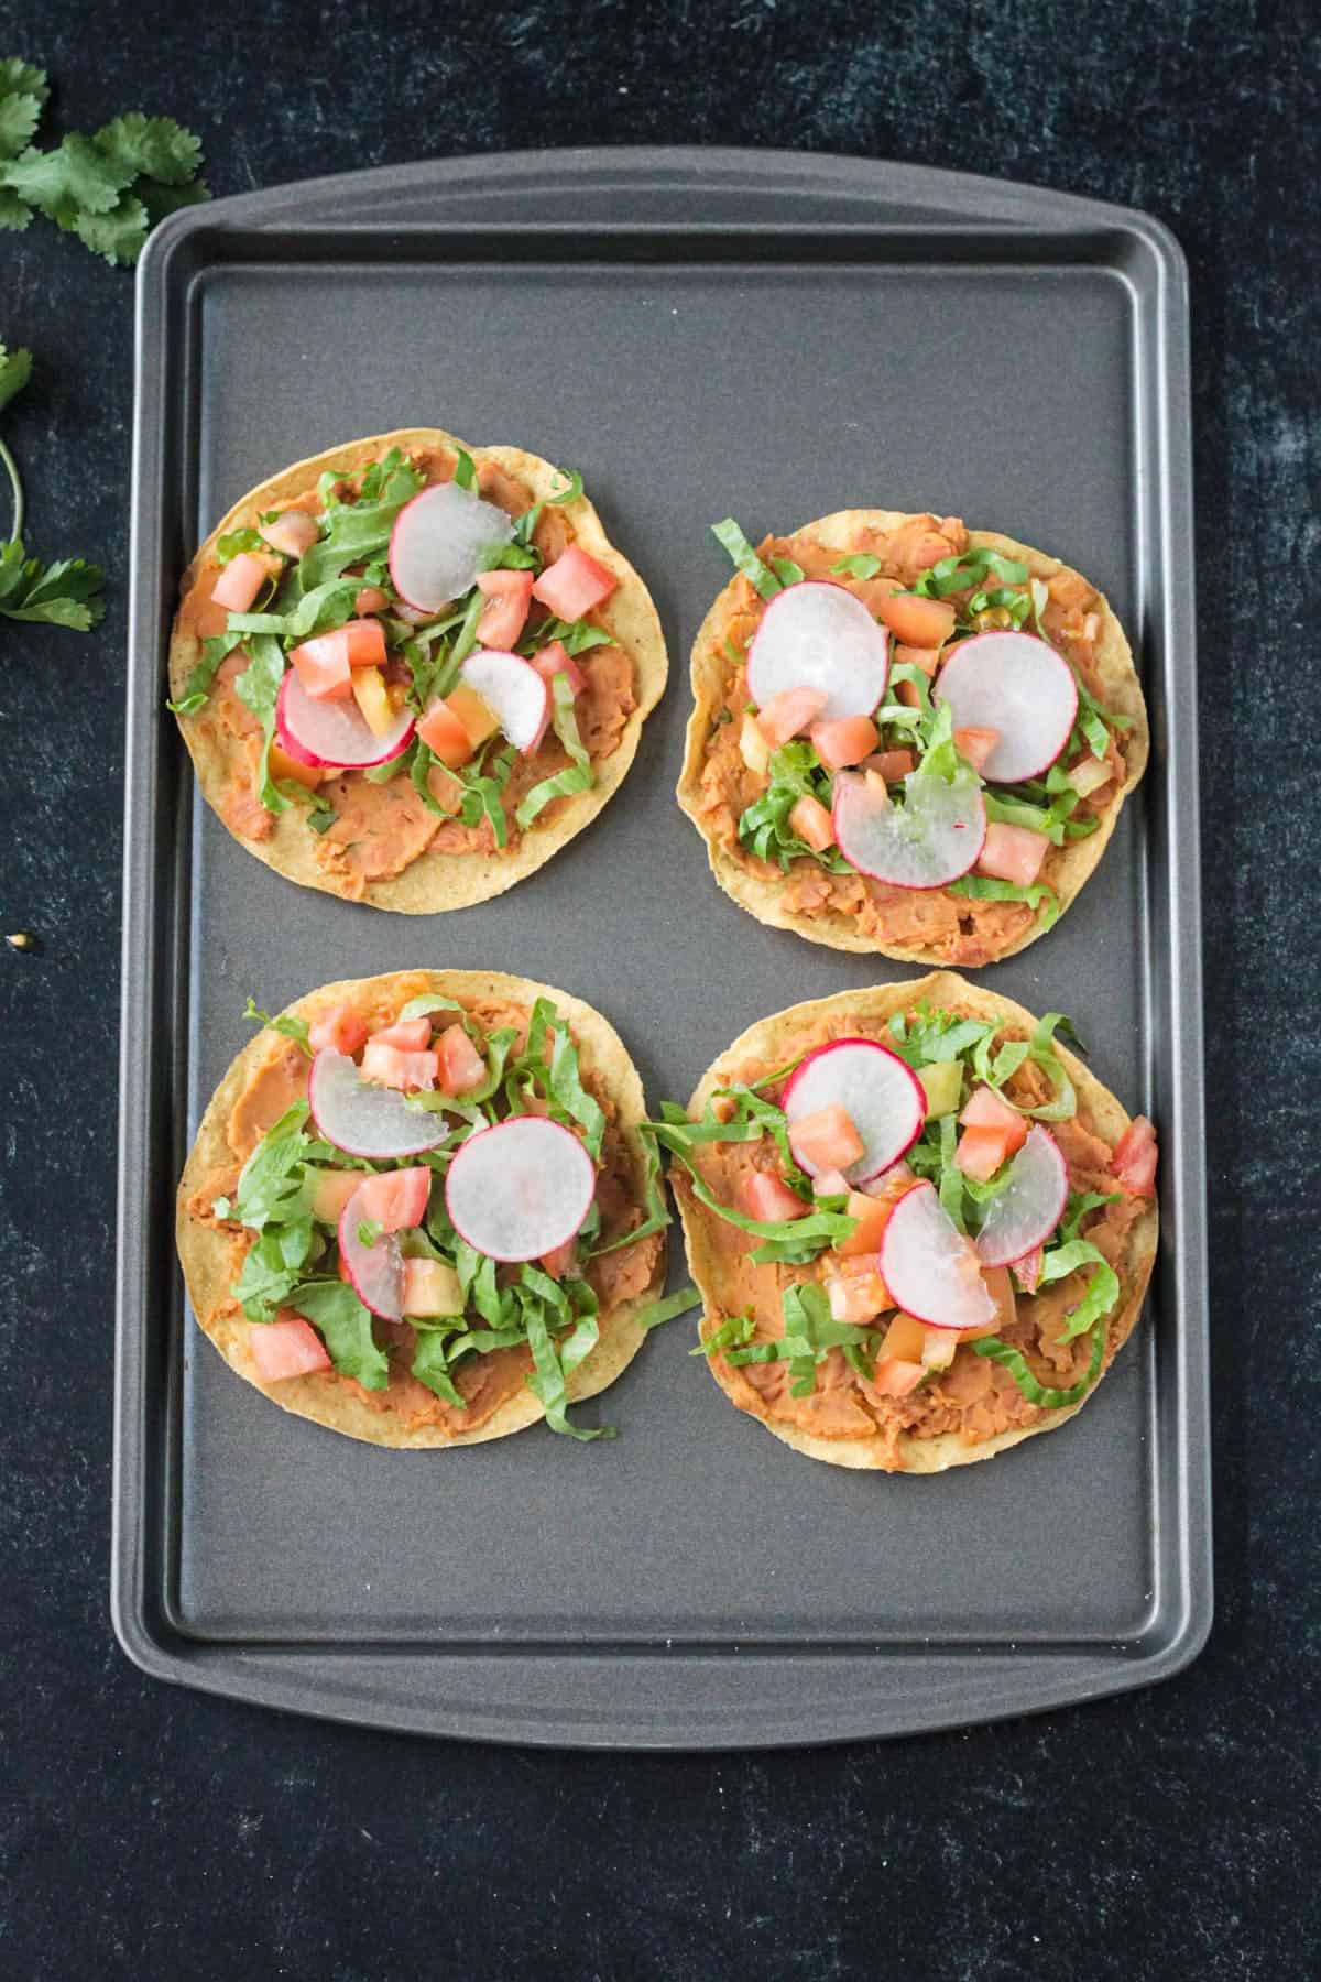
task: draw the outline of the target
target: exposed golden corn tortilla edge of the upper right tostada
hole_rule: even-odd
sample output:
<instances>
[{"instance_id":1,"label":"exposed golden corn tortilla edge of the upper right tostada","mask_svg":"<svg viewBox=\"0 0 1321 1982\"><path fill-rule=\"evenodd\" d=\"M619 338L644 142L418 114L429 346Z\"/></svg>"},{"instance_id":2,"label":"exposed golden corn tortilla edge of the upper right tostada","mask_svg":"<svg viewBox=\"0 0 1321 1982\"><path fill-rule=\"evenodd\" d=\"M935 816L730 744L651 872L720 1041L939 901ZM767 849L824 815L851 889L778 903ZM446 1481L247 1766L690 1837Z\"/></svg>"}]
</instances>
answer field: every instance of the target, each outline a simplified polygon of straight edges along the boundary
<instances>
[{"instance_id":1,"label":"exposed golden corn tortilla edge of the upper right tostada","mask_svg":"<svg viewBox=\"0 0 1321 1982\"><path fill-rule=\"evenodd\" d=\"M828 547L838 547L840 553L856 549L862 531L887 533L899 529L903 523L913 521L911 515L899 509L840 509L834 515L820 517L816 523L804 523L794 535L812 533ZM1026 565L1034 579L1054 579L1062 571L1071 571L1058 557L1048 557L1044 551L1034 551L1026 543L1018 543L1014 537L1002 537L998 531L970 529L968 531L968 551L1000 551L1002 557L1012 557ZM1075 573L1077 575L1077 573ZM856 949L869 951L873 955L895 957L901 963L941 963L939 955L929 949L905 949L901 945L881 943L873 936L865 936L852 916L844 914L824 914L824 916L804 916L784 906L784 886L778 878L762 878L755 874L743 858L729 854L711 832L709 825L701 817L701 769L703 769L703 747L711 733L713 717L717 708L725 698L725 688L729 682L729 656L721 646L721 628L727 624L731 614L731 593L737 585L737 577L729 581L725 591L719 595L693 642L691 660L691 682L693 682L693 714L687 723L687 745L683 753L683 771L679 773L677 799L679 807L693 821L703 840L707 842L707 858L711 862L711 872L717 882L729 894L739 908L747 908L751 916L759 922L768 922L776 930L794 930L798 936L806 936L812 943L828 943L832 949ZM1089 581L1085 581L1089 583ZM1147 704L1143 700L1143 684L1139 682L1137 668L1133 664L1133 652L1125 638L1123 626L1119 624L1105 595L1097 595L1097 612L1101 616L1101 632L1095 644L1095 672L1101 682L1101 704L1113 710L1117 716L1129 716L1133 727L1125 733L1125 767L1127 775L1123 787L1115 793L1101 823L1095 832L1085 840L1073 840L1066 846L1052 846L1046 854L1046 864L1042 868L1042 880L1046 880L1060 896L1060 914L1064 914L1069 904L1077 898L1087 876L1097 868L1101 854L1105 852L1109 838L1115 830L1119 811L1125 797L1139 783L1143 771L1147 769L1149 753L1149 727L1147 727ZM1008 943L1000 957L1012 957L1028 943L1034 943L1038 936L1046 932L1040 922L1034 922L1024 936ZM992 961L1000 961L1000 957Z\"/></svg>"}]
</instances>

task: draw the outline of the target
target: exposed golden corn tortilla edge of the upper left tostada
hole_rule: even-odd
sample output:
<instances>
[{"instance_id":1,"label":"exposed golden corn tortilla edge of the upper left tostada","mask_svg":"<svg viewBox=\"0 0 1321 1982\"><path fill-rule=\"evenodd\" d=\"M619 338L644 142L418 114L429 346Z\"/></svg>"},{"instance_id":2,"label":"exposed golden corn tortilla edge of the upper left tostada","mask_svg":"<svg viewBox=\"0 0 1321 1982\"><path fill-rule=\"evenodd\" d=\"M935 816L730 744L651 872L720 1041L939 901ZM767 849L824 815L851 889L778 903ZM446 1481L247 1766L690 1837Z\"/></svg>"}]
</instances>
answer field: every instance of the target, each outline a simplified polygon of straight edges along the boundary
<instances>
[{"instance_id":1,"label":"exposed golden corn tortilla edge of the upper left tostada","mask_svg":"<svg viewBox=\"0 0 1321 1982\"><path fill-rule=\"evenodd\" d=\"M537 454L527 454L523 448L469 448L465 442L456 440L454 434L446 434L436 426L408 426L370 440L355 440L343 448L327 448L323 454L313 454L309 460L281 470L281 474L271 476L269 482L250 490L248 496L234 503L188 565L180 583L180 597L188 595L206 563L214 559L216 543L222 535L234 529L255 527L265 509L287 503L315 488L317 478L327 470L337 468L347 478L356 476L370 462L388 454L390 448L400 448L404 454L418 450L457 452L465 448L477 468L493 462L505 474L517 476L533 492L533 501L549 501L557 486L562 484L560 472ZM491 896L503 894L505 888L513 888L515 882L533 874L574 834L582 832L628 775L642 737L642 723L665 690L669 668L665 636L661 634L652 595L628 559L606 537L600 517L586 496L572 503L562 503L560 515L572 529L574 543L606 565L606 569L614 571L620 581L618 591L596 612L596 618L614 634L634 664L638 708L628 717L620 745L608 757L594 759L596 783L590 791L578 793L568 803L559 801L551 817L529 826L519 836L519 844L509 852L444 854L428 848L402 874L390 880L366 882L362 900L374 908L392 908L406 916L436 916L450 908L471 908L473 902L487 902ZM192 628L180 626L176 620L170 636L170 700L180 700L184 682L200 658L200 638ZM242 743L228 733L216 733L216 725L202 727L204 716L204 710L198 716L180 716L178 727L196 765L202 797L226 828L234 832L234 826L224 819L222 801L234 779L234 767L242 761ZM301 807L293 807L275 821L269 840L248 840L240 832L234 832L234 838L248 852L255 854L257 860L265 860L277 874L299 882L303 888L321 888L325 894L345 892L337 886L335 876L327 874L317 862L317 838L309 830Z\"/></svg>"}]
</instances>

